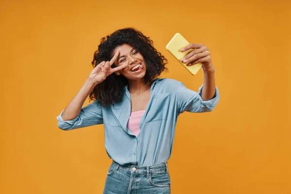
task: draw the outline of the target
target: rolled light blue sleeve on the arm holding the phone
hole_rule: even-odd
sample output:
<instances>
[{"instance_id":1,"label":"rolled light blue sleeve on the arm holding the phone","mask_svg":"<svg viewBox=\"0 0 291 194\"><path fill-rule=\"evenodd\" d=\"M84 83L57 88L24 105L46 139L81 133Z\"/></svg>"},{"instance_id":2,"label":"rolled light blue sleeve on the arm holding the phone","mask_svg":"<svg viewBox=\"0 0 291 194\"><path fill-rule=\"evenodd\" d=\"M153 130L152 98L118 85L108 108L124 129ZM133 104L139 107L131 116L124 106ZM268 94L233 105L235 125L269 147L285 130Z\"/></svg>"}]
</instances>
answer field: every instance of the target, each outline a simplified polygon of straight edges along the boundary
<instances>
[{"instance_id":1,"label":"rolled light blue sleeve on the arm holding the phone","mask_svg":"<svg viewBox=\"0 0 291 194\"><path fill-rule=\"evenodd\" d=\"M203 100L201 97L203 85L199 88L198 92L188 89L182 82L180 83L177 91L178 110L179 113L185 111L191 113L211 112L219 101L219 92L215 87L215 95L210 100Z\"/></svg>"}]
</instances>

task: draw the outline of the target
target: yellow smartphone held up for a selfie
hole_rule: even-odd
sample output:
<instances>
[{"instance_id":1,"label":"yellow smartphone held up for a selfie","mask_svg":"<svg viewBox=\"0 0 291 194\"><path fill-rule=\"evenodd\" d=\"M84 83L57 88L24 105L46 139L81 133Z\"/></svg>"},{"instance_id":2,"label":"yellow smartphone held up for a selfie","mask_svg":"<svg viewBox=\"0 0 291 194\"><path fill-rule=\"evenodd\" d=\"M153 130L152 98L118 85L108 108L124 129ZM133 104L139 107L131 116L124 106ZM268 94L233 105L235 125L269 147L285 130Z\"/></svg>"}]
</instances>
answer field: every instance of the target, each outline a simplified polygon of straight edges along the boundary
<instances>
[{"instance_id":1,"label":"yellow smartphone held up for a selfie","mask_svg":"<svg viewBox=\"0 0 291 194\"><path fill-rule=\"evenodd\" d=\"M192 66L187 66L183 62L181 62L181 59L185 57L187 54L189 54L192 50L190 49L185 52L181 52L180 50L190 43L180 34L176 33L173 38L170 40L170 42L167 44L166 49L178 60L180 64L182 64L192 75L196 75L196 73L199 71L199 69L202 66L202 63L195 64Z\"/></svg>"}]
</instances>

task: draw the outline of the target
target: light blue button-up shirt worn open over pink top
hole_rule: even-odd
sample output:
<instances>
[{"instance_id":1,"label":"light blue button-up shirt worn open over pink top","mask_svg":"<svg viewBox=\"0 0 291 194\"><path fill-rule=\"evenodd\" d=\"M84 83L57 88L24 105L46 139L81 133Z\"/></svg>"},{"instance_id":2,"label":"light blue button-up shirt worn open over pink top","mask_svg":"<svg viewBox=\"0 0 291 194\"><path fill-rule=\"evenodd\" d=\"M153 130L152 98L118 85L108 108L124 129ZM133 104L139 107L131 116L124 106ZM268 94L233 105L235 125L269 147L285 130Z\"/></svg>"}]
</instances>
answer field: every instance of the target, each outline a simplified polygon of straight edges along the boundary
<instances>
[{"instance_id":1,"label":"light blue button-up shirt worn open over pink top","mask_svg":"<svg viewBox=\"0 0 291 194\"><path fill-rule=\"evenodd\" d=\"M121 165L166 162L172 152L178 115L184 111L210 112L219 101L217 88L212 99L203 101L202 87L197 93L186 88L182 82L156 79L150 89L150 100L141 118L141 131L137 137L127 128L131 110L127 86L121 103L104 108L93 101L81 109L78 117L69 121L62 119L62 112L57 117L58 126L70 130L104 124L108 156Z\"/></svg>"}]
</instances>

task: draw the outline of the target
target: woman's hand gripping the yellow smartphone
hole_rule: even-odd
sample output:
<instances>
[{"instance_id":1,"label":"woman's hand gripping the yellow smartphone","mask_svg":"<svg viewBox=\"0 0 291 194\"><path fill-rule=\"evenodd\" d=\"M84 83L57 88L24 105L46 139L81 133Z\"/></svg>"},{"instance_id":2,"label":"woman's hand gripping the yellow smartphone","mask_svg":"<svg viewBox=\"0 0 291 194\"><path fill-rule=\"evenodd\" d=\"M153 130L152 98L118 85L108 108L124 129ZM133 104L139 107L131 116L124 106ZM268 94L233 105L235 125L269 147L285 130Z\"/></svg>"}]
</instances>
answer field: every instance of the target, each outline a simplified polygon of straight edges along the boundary
<instances>
[{"instance_id":1,"label":"woman's hand gripping the yellow smartphone","mask_svg":"<svg viewBox=\"0 0 291 194\"><path fill-rule=\"evenodd\" d=\"M198 63L202 63L202 68L205 72L214 71L208 47L205 47L203 44L192 43L181 49L181 52L185 52L190 49L194 50L181 59L184 64L187 64L187 66L192 66Z\"/></svg>"}]
</instances>

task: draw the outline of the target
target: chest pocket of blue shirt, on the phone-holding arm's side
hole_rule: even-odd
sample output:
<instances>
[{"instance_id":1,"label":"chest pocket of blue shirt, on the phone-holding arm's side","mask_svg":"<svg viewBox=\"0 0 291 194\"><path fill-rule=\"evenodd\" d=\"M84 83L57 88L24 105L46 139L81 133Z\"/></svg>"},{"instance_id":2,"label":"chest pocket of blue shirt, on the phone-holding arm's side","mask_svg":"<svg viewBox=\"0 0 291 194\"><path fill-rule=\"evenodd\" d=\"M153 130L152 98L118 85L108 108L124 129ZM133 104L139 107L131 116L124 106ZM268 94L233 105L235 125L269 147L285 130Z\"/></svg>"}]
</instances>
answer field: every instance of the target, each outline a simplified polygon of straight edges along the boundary
<instances>
[{"instance_id":1,"label":"chest pocket of blue shirt, on the phone-holding arm's side","mask_svg":"<svg viewBox=\"0 0 291 194\"><path fill-rule=\"evenodd\" d=\"M167 119L172 93L157 94L151 103L146 115L146 123Z\"/></svg>"}]
</instances>

